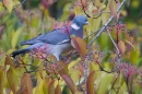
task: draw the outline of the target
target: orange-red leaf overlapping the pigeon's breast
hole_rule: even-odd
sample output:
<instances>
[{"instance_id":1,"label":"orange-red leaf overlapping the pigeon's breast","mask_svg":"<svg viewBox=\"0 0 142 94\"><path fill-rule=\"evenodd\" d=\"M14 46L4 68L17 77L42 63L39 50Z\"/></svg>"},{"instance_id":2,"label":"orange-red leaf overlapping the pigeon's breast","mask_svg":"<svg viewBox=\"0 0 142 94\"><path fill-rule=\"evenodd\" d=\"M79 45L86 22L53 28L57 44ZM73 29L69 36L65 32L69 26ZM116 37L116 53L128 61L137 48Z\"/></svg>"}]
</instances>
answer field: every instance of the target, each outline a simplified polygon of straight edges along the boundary
<instances>
[{"instance_id":1,"label":"orange-red leaf overlapping the pigeon's breast","mask_svg":"<svg viewBox=\"0 0 142 94\"><path fill-rule=\"evenodd\" d=\"M80 37L72 37L71 45L80 52L81 57L87 52L86 44Z\"/></svg>"}]
</instances>

